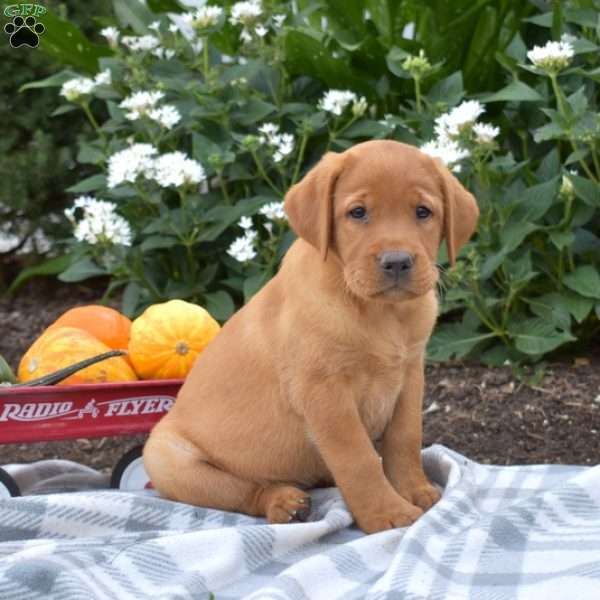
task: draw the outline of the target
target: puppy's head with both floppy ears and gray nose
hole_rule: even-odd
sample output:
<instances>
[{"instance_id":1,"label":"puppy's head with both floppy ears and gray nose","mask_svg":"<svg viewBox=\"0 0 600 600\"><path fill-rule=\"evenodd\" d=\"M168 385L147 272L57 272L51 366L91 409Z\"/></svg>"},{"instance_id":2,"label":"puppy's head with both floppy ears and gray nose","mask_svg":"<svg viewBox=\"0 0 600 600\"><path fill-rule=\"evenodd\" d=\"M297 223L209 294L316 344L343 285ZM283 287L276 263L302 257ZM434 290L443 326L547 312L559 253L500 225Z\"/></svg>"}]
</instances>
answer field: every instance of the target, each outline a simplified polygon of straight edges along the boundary
<instances>
[{"instance_id":1,"label":"puppy's head with both floppy ears and gray nose","mask_svg":"<svg viewBox=\"0 0 600 600\"><path fill-rule=\"evenodd\" d=\"M444 166L388 140L327 153L288 191L285 211L323 260L335 256L353 294L384 301L431 290L442 239L454 264L479 216Z\"/></svg>"}]
</instances>

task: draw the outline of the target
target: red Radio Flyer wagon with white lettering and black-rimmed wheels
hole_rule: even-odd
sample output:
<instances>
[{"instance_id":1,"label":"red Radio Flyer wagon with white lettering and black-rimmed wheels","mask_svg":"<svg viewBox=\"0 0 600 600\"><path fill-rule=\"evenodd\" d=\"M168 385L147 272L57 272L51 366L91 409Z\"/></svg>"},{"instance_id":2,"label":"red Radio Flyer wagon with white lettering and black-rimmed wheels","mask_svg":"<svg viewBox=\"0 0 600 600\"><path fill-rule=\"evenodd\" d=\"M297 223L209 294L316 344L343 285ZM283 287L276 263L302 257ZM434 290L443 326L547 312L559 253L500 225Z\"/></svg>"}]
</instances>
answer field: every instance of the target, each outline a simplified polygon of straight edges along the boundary
<instances>
[{"instance_id":1,"label":"red Radio Flyer wagon with white lettering and black-rimmed wheels","mask_svg":"<svg viewBox=\"0 0 600 600\"><path fill-rule=\"evenodd\" d=\"M147 433L175 402L183 380L0 388L0 444ZM149 479L142 447L126 452L111 485L143 489ZM0 497L19 495L0 469Z\"/></svg>"}]
</instances>

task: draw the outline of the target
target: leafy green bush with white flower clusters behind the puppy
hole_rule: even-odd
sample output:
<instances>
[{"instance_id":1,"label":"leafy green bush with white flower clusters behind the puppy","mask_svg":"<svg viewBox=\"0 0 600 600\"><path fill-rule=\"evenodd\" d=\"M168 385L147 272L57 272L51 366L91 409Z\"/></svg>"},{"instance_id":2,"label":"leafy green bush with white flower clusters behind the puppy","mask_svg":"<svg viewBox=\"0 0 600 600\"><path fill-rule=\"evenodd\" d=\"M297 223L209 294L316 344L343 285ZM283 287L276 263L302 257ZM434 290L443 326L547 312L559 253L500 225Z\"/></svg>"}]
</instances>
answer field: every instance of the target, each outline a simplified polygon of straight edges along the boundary
<instances>
[{"instance_id":1,"label":"leafy green bush with white flower clusters behind the puppy","mask_svg":"<svg viewBox=\"0 0 600 600\"><path fill-rule=\"evenodd\" d=\"M99 73L36 84L94 132L61 279L110 276L129 314L180 297L224 320L293 239L285 190L326 150L387 137L481 208L431 359L539 361L598 331L597 0L244 5L114 0Z\"/></svg>"}]
</instances>

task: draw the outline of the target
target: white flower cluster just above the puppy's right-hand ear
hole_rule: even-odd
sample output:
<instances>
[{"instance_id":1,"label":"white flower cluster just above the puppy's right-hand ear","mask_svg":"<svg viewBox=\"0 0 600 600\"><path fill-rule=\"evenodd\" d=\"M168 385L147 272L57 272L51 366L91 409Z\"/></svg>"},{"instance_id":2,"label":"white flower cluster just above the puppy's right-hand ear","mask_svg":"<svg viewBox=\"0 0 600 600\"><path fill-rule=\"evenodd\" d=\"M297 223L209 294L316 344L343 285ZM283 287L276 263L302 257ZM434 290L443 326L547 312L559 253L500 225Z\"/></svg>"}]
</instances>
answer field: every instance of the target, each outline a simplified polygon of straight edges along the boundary
<instances>
[{"instance_id":1,"label":"white flower cluster just above the puppy's right-hand ear","mask_svg":"<svg viewBox=\"0 0 600 600\"><path fill-rule=\"evenodd\" d=\"M421 151L439 158L449 169L460 172L460 161L470 156L467 142L491 145L500 130L477 119L485 108L476 100L468 100L435 120L436 138L421 146Z\"/></svg>"}]
</instances>

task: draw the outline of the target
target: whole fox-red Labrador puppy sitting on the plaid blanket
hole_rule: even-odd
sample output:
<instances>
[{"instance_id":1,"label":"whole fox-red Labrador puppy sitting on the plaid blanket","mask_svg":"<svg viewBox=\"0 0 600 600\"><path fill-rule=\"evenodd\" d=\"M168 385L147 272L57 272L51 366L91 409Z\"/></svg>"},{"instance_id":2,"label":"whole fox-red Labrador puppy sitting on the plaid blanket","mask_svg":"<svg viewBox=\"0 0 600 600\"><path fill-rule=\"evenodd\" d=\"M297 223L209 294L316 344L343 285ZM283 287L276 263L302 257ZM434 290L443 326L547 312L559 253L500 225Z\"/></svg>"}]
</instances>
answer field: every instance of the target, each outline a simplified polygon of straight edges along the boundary
<instances>
[{"instance_id":1,"label":"whole fox-red Labrador puppy sitting on the plaid blanket","mask_svg":"<svg viewBox=\"0 0 600 600\"><path fill-rule=\"evenodd\" d=\"M445 238L454 262L477 203L418 149L371 141L326 154L285 210L299 239L196 361L146 469L164 497L272 523L337 485L364 531L406 526L439 499L421 464L436 255Z\"/></svg>"}]
</instances>

